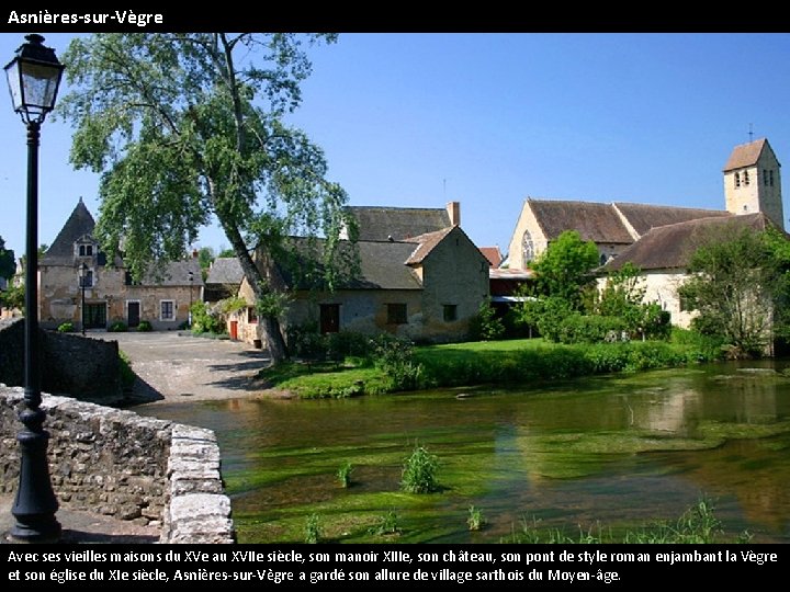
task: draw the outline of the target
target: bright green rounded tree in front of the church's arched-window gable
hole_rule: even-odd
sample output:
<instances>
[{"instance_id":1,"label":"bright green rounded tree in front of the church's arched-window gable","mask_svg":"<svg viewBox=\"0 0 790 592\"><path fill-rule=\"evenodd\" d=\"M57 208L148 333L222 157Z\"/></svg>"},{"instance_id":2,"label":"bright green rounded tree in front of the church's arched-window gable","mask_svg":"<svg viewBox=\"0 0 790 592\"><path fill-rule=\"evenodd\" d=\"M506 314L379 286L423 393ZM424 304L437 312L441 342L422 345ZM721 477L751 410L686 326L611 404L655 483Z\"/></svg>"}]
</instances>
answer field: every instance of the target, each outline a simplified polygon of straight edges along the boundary
<instances>
[{"instance_id":1,"label":"bright green rounded tree in front of the church's arched-window gable","mask_svg":"<svg viewBox=\"0 0 790 592\"><path fill-rule=\"evenodd\" d=\"M590 271L598 264L598 248L595 242L584 242L576 230L565 230L532 265L538 292L544 296L562 298L574 310L582 310L585 291L595 281Z\"/></svg>"}]
</instances>

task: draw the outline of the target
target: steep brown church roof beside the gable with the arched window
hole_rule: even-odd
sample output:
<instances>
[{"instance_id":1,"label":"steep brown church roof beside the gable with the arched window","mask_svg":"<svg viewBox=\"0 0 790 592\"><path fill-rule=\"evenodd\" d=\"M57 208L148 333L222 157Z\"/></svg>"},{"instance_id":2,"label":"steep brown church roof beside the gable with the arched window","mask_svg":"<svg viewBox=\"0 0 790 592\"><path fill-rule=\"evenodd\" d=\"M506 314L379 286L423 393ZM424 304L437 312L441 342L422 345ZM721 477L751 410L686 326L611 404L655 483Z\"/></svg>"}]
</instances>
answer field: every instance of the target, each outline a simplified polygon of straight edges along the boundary
<instances>
[{"instance_id":1,"label":"steep brown church roof beside the gable with the arched window","mask_svg":"<svg viewBox=\"0 0 790 592\"><path fill-rule=\"evenodd\" d=\"M611 204L533 200L528 203L548 240L577 230L582 240L630 244L633 238Z\"/></svg>"}]
</instances>

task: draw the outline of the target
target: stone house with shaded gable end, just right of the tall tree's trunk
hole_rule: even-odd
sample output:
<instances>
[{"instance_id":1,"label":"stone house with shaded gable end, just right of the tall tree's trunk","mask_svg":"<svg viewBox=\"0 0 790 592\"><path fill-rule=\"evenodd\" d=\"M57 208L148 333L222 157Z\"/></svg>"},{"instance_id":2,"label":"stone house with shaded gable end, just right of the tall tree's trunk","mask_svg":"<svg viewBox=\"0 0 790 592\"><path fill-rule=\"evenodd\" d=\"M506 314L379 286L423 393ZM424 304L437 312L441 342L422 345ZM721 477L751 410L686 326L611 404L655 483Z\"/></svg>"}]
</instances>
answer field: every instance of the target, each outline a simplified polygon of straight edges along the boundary
<instances>
[{"instance_id":1,"label":"stone house with shaded gable end, just right of the tall tree's trunk","mask_svg":"<svg viewBox=\"0 0 790 592\"><path fill-rule=\"evenodd\" d=\"M341 242L341 250L353 248ZM314 325L323 333L386 331L419 341L456 341L467 334L470 319L488 297L488 261L459 226L404 240L359 240L356 249L358 272L334 292L308 289L282 270L293 291L284 328ZM246 281L239 294L249 307L232 316L230 332L247 342L261 340Z\"/></svg>"}]
</instances>

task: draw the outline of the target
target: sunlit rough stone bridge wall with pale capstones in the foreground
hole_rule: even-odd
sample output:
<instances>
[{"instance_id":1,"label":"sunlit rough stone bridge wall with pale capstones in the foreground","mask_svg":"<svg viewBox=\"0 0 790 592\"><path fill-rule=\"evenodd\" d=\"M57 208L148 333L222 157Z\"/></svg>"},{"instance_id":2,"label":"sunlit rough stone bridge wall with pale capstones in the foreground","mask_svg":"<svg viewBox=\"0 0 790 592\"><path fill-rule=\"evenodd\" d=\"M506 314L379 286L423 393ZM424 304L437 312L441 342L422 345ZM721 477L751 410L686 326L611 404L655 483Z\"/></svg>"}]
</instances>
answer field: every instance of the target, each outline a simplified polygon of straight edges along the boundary
<instances>
[{"instance_id":1,"label":"sunlit rough stone bridge wall with pale capstones in the foreground","mask_svg":"<svg viewBox=\"0 0 790 592\"><path fill-rule=\"evenodd\" d=\"M0 385L0 493L19 479L22 388ZM163 543L233 543L213 432L45 396L49 471L64 506L161 528Z\"/></svg>"}]
</instances>

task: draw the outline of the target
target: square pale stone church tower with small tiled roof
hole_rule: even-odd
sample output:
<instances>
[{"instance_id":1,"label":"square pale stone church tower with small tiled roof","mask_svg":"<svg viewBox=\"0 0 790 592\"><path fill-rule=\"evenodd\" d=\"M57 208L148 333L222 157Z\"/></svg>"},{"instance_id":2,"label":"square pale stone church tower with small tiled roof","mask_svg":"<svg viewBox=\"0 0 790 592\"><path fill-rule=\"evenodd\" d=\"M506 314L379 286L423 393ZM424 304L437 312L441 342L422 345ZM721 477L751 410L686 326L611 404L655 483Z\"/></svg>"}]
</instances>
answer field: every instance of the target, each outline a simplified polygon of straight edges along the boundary
<instances>
[{"instance_id":1,"label":"square pale stone church tower with small tiled roof","mask_svg":"<svg viewBox=\"0 0 790 592\"><path fill-rule=\"evenodd\" d=\"M733 148L724 166L724 198L727 212L763 212L783 230L785 212L779 168L779 161L766 138Z\"/></svg>"}]
</instances>

